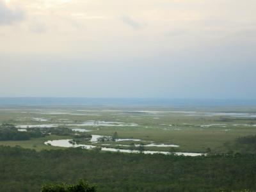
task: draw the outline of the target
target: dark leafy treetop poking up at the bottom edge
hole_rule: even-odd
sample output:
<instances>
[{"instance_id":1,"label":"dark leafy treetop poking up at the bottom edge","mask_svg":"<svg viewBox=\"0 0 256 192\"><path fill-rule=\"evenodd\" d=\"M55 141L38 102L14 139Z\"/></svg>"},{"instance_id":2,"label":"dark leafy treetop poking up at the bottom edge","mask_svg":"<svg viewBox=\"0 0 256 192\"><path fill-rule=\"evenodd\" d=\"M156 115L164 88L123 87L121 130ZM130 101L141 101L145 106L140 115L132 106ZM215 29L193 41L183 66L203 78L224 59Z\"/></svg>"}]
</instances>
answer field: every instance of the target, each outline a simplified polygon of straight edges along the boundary
<instances>
[{"instance_id":1,"label":"dark leafy treetop poking up at the bottom edge","mask_svg":"<svg viewBox=\"0 0 256 192\"><path fill-rule=\"evenodd\" d=\"M96 192L96 187L85 180L79 180L78 184L45 184L41 192Z\"/></svg>"}]
</instances>

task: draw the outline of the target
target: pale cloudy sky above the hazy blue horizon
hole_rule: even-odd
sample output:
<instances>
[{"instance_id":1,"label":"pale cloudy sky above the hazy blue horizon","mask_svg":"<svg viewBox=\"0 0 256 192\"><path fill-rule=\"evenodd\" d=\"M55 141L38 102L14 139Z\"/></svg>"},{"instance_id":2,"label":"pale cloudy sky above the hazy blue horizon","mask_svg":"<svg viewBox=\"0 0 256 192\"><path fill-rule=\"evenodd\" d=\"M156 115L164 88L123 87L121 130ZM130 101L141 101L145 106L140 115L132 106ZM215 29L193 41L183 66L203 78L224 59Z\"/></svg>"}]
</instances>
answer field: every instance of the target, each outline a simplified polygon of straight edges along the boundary
<instances>
[{"instance_id":1,"label":"pale cloudy sky above the hazy blue horizon","mask_svg":"<svg viewBox=\"0 0 256 192\"><path fill-rule=\"evenodd\" d=\"M0 97L256 99L255 0L0 0Z\"/></svg>"}]
</instances>

